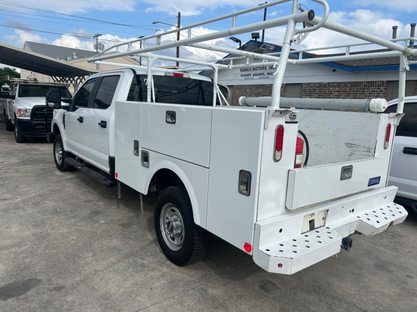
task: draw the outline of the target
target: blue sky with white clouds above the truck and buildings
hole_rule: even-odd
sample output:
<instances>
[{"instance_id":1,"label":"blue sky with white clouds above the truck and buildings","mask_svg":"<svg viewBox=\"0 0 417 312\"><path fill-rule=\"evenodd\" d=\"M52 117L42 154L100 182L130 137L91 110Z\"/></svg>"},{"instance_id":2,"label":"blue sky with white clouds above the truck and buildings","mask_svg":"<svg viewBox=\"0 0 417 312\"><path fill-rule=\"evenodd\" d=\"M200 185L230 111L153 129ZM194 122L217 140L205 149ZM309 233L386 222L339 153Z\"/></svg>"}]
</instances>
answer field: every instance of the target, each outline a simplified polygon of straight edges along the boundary
<instances>
[{"instance_id":1,"label":"blue sky with white clouds above the truck and buildings","mask_svg":"<svg viewBox=\"0 0 417 312\"><path fill-rule=\"evenodd\" d=\"M96 33L102 34L100 40L108 48L119 41L174 29L174 26L152 22L176 24L178 12L181 12L181 26L186 26L259 3L259 0L0 0L0 42L23 47L25 41L33 41L92 51L92 36ZM317 3L311 0L300 0L299 3L303 8L313 9L316 15L322 16L322 7ZM387 39L391 38L393 25L398 26L397 37L408 37L409 24L417 22L417 6L410 5L410 1L328 0L328 3L331 12L329 20ZM290 10L289 3L274 5L267 9L266 18L269 20L288 15ZM263 10L241 15L237 17L237 26L259 22L263 15ZM192 35L203 35L230 27L231 18L193 28ZM264 41L281 45L284 32L284 27L267 29ZM186 35L186 32L181 33L181 38L185 38ZM165 37L163 42L176 39L175 34ZM243 43L251 39L250 34L235 37ZM336 46L356 42L360 40L320 29L310 33L300 45L292 45L292 48ZM239 46L228 37L208 43L229 48ZM148 40L147 44L154 45L155 41ZM371 48L375 46L366 47ZM366 49L357 47L351 51ZM319 53L334 52L342 50L322 50ZM175 56L175 50L158 54ZM225 55L191 47L181 47L180 50L180 57L196 60L217 59ZM171 63L161 63L167 64Z\"/></svg>"}]
</instances>

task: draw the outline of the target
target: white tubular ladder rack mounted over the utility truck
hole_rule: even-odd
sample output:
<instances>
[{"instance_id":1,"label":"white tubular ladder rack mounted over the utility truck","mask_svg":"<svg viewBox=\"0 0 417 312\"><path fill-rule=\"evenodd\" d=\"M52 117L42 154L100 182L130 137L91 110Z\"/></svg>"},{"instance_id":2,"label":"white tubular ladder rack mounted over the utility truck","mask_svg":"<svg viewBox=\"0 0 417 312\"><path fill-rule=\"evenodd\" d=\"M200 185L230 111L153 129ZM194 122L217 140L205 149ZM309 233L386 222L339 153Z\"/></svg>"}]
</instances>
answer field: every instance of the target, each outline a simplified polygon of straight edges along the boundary
<instances>
[{"instance_id":1,"label":"white tubular ladder rack mounted over the utility truck","mask_svg":"<svg viewBox=\"0 0 417 312\"><path fill-rule=\"evenodd\" d=\"M88 62L96 63L96 64L108 64L108 65L119 65L119 66L126 66L126 64L117 64L111 62L105 62L107 59L112 59L120 56L131 56L131 57L146 57L147 61L147 75L148 81L152 81L152 64L156 59L168 60L173 62L182 62L191 64L191 66L184 67L182 69L175 70L176 72L196 72L202 70L212 70L213 71L213 80L215 86L217 86L217 77L219 70L226 70L226 69L234 69L234 68L241 68L241 67L250 67L250 66L259 66L262 65L273 65L276 68L276 72L274 73L274 82L272 87L272 97L271 97L271 104L268 106L269 113L268 115L271 116L276 110L281 110L279 103L280 103L280 93L281 93L281 84L284 77L284 72L286 69L286 64L307 64L307 63L320 63L320 62L337 62L342 60L352 60L352 59L372 59L372 58L379 58L379 57L399 57L399 91L398 91L398 105L397 105L397 113L392 113L393 115L397 116L396 124L399 122L399 119L402 117L403 107L404 107L404 96L405 96L405 74L406 71L409 70L408 63L416 64L416 61L408 61L408 55L417 55L417 49L412 47L407 47L408 40L417 41L417 38L407 37L407 38L399 38L399 39L392 39L386 40L375 35L368 34L366 32L361 32L358 30L354 30L350 27L344 26L342 24L332 22L327 20L329 16L329 5L325 0L311 0L313 2L317 2L323 7L323 17L318 17L315 15L313 10L303 11L298 5L298 0L276 0L269 3L265 3L262 5L258 5L256 7L251 7L246 10L241 10L237 12L233 12L227 15L223 15L220 17L216 17L210 20L206 20L203 22L198 22L192 25L179 27L177 29L169 30L166 32L158 33L156 35L151 35L148 37L138 38L135 40L130 40L128 42L118 43L109 47L108 49L100 52L99 54L95 55L93 58L88 59ZM283 17L277 17L271 20L266 20L263 22L256 22L244 26L236 26L236 19L238 16L254 12L256 10L262 10L266 7L273 7L276 5L283 4L285 2L291 2L291 12L289 15ZM192 28L198 27L202 25L207 25L212 22L217 22L220 20L225 20L231 18L231 28L226 30L220 30L217 32L212 32L206 35L198 35L198 36L191 36ZM303 28L296 28L296 25L301 24ZM267 29L277 26L284 26L286 25L286 31L284 35L284 40L282 43L281 52L278 53L271 53L271 54L259 54L254 52L246 52L241 50L234 50L226 47L219 47L216 45L208 45L203 43L208 40L215 40L223 37L229 37L234 35L239 35L247 32L256 31L259 29ZM351 37L355 37L364 42L352 45L342 45L342 46L329 46L329 47L317 47L312 49L303 49L303 50L291 50L291 44L300 44L306 37L309 35L310 32L318 30L319 28L324 27L334 32L338 32L344 35L349 35ZM175 33L181 32L181 30L187 30L188 36L186 39L178 40L178 41L171 41L168 43L161 43L161 37ZM146 46L146 41L154 39L156 44L154 46ZM143 42L143 47L141 49L133 49L133 44L137 42ZM398 44L397 42L402 42L402 44ZM374 52L374 53L364 53L364 54L350 54L350 47L359 46L359 45L370 45L376 44L385 48L391 49L391 51L386 52ZM126 46L127 51L119 52L119 47ZM183 58L176 58L176 57L168 57L164 55L153 54L151 52L165 50L172 47L178 46L189 46L195 47L204 50L212 50L218 52L225 52L229 54L234 54L236 57L231 57L227 59L216 59L211 61L197 61L192 59L183 59ZM315 58L308 58L303 59L302 53L307 51L317 51L317 50L327 50L327 49L334 49L334 48L342 48L346 49L345 55L339 56L329 56L329 57L315 57ZM115 54L107 54L103 55L105 52L110 50L116 49ZM294 54L298 54L298 59L289 58L289 56L293 56ZM247 58L247 64L239 64L233 65L234 59L239 58ZM262 63L250 64L249 57L257 57L262 60ZM222 63L218 63L219 61ZM223 64L223 62L229 61L229 64ZM197 67L196 67L197 65ZM144 68L144 67L143 67ZM151 102L151 94L152 94L152 83L147 84L148 88L148 102ZM222 96L219 94L218 88L213 88L213 105L216 105L216 97Z\"/></svg>"}]
</instances>

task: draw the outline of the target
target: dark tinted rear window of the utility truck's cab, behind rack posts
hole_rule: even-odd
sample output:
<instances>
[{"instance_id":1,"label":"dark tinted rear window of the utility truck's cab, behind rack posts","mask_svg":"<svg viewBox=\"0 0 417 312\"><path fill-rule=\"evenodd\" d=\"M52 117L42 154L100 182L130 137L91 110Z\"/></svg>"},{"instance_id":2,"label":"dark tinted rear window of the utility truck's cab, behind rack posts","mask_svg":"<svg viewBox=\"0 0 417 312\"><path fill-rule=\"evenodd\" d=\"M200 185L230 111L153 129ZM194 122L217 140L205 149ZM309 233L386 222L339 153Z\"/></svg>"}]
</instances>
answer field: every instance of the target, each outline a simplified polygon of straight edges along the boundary
<instances>
[{"instance_id":1,"label":"dark tinted rear window of the utility truck's cab, behind rack posts","mask_svg":"<svg viewBox=\"0 0 417 312\"><path fill-rule=\"evenodd\" d=\"M146 75L136 75L128 94L128 101L147 100ZM153 75L155 102L169 104L213 105L213 83L184 77ZM219 99L217 99L219 104Z\"/></svg>"}]
</instances>

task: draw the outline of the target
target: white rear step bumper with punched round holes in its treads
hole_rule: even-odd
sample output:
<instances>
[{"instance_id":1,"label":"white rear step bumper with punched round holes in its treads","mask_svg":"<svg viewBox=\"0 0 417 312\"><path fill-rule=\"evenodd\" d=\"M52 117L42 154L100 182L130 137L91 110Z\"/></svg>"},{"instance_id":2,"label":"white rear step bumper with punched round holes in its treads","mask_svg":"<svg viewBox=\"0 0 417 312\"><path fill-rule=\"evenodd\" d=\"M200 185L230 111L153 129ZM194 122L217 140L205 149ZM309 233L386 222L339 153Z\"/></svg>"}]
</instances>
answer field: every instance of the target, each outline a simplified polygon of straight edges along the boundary
<instances>
[{"instance_id":1,"label":"white rear step bumper with punched round holes in its treads","mask_svg":"<svg viewBox=\"0 0 417 312\"><path fill-rule=\"evenodd\" d=\"M374 235L401 223L407 211L392 202L396 191L390 186L257 222L254 261L268 272L294 274L339 253L342 238L355 231ZM323 210L325 225L301 233L304 216Z\"/></svg>"}]
</instances>

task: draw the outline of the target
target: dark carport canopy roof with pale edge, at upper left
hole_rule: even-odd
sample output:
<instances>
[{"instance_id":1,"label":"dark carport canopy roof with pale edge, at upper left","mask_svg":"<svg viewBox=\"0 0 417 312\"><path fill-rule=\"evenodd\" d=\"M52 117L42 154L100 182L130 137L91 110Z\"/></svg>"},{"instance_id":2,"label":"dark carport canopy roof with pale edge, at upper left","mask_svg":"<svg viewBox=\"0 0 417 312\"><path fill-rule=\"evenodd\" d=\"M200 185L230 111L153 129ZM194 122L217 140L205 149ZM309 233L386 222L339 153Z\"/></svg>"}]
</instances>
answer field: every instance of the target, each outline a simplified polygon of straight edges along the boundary
<instances>
[{"instance_id":1,"label":"dark carport canopy roof with pale edge, at upper left","mask_svg":"<svg viewBox=\"0 0 417 312\"><path fill-rule=\"evenodd\" d=\"M55 77L83 77L100 72L5 43L0 43L0 63Z\"/></svg>"}]
</instances>

